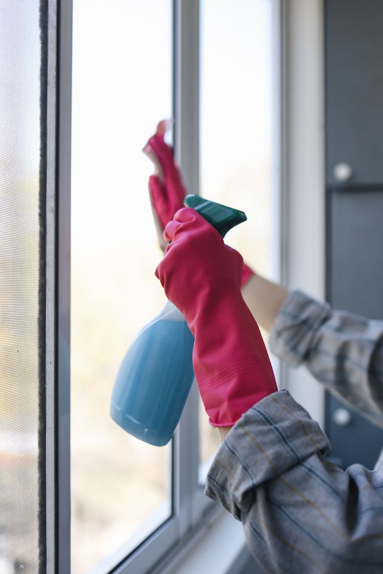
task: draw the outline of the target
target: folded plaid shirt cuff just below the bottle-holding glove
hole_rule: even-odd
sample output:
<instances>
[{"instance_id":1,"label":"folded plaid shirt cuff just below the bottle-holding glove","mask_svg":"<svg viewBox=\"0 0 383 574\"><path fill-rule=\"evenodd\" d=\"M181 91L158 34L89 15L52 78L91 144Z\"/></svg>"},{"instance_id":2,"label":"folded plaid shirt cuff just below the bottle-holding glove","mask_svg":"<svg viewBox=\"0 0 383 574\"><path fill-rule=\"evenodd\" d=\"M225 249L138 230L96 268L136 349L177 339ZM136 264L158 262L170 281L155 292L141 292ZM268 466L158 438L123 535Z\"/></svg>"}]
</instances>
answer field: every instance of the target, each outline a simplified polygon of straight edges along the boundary
<instances>
[{"instance_id":1,"label":"folded plaid shirt cuff just below the bottle-holding glove","mask_svg":"<svg viewBox=\"0 0 383 574\"><path fill-rule=\"evenodd\" d=\"M288 391L265 397L235 423L207 475L205 494L241 520L256 488L330 448L318 422Z\"/></svg>"}]
</instances>

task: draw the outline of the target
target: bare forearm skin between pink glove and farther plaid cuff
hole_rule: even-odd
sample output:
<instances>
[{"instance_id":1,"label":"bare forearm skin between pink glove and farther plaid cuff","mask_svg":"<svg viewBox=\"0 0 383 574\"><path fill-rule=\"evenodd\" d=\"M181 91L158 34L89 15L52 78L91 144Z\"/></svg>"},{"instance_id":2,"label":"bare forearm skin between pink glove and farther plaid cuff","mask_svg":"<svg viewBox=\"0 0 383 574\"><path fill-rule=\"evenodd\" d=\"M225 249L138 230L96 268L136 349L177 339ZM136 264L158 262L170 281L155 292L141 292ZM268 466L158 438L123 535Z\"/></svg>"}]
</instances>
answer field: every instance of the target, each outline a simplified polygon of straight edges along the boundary
<instances>
[{"instance_id":1,"label":"bare forearm skin between pink glove and farther plaid cuff","mask_svg":"<svg viewBox=\"0 0 383 574\"><path fill-rule=\"evenodd\" d=\"M254 274L242 288L242 296L257 323L270 331L289 292L283 286Z\"/></svg>"}]
</instances>

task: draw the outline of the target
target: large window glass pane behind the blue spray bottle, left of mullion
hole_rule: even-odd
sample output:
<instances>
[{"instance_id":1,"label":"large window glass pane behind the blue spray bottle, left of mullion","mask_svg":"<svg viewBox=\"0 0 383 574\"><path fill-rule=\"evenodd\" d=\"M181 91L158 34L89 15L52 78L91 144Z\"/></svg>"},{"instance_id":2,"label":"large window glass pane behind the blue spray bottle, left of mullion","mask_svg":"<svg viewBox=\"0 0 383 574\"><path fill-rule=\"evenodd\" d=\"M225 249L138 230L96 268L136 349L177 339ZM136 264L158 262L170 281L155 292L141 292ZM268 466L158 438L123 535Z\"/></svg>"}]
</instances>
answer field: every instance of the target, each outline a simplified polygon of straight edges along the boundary
<instances>
[{"instance_id":1,"label":"large window glass pane behind the blue spray bottle, left of mullion","mask_svg":"<svg viewBox=\"0 0 383 574\"><path fill-rule=\"evenodd\" d=\"M119 364L165 302L141 149L171 117L171 94L170 0L74 0L72 574L121 559L171 513L170 446L109 414Z\"/></svg>"}]
</instances>

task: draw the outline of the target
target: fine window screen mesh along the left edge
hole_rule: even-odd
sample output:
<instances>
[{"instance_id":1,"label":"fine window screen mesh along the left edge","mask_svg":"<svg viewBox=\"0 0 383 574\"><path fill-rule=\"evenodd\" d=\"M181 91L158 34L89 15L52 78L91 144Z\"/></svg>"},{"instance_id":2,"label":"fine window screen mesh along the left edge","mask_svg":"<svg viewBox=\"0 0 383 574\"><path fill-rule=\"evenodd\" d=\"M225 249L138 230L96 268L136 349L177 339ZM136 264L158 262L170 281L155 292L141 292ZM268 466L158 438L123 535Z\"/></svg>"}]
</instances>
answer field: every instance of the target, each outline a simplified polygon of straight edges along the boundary
<instances>
[{"instance_id":1,"label":"fine window screen mesh along the left edge","mask_svg":"<svg viewBox=\"0 0 383 574\"><path fill-rule=\"evenodd\" d=\"M32 574L44 545L40 317L40 2L0 5L0 572ZM44 76L44 74L43 74ZM42 170L41 170L42 172ZM43 258L44 259L44 258ZM42 263L42 265L41 265ZM39 365L40 363L40 365ZM39 388L40 387L40 388ZM39 448L40 445L40 448ZM40 510L39 510L40 509ZM42 519L42 520L41 520ZM40 549L39 549L40 548ZM40 559L39 559L40 554ZM44 561L44 560L42 560ZM39 564L40 563L40 564ZM41 571L41 570L40 570Z\"/></svg>"}]
</instances>

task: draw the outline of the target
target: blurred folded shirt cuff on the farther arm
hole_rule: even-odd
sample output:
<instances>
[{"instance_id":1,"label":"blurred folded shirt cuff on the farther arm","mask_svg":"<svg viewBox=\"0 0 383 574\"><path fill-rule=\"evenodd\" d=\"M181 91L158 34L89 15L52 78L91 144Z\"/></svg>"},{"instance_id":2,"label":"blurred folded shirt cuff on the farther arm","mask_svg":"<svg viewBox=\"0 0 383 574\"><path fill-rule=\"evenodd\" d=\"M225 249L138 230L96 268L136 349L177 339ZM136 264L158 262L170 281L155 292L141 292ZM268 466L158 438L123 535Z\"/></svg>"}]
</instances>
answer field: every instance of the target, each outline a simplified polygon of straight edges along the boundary
<instances>
[{"instance_id":1,"label":"blurred folded shirt cuff on the farther arm","mask_svg":"<svg viewBox=\"0 0 383 574\"><path fill-rule=\"evenodd\" d=\"M328 303L316 301L301 291L292 291L270 330L270 351L297 367L308 358L312 339L330 315Z\"/></svg>"}]
</instances>

